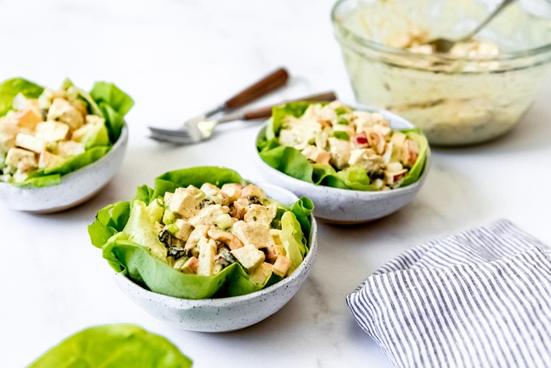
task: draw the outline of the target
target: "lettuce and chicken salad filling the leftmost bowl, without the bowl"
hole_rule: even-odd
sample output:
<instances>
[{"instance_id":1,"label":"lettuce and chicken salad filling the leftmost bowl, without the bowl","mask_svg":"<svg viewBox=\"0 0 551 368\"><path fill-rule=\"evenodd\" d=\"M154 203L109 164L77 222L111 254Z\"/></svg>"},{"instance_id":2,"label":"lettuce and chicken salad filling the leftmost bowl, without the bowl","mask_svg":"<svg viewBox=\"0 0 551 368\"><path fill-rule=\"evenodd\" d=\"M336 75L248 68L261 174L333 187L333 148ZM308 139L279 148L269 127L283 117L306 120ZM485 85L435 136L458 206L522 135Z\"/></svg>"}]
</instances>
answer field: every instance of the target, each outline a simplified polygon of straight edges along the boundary
<instances>
[{"instance_id":1,"label":"lettuce and chicken salad filling the leftmost bowl, without the bowl","mask_svg":"<svg viewBox=\"0 0 551 368\"><path fill-rule=\"evenodd\" d=\"M102 158L117 142L134 100L116 85L59 90L23 78L0 84L0 182L51 186Z\"/></svg>"}]
</instances>

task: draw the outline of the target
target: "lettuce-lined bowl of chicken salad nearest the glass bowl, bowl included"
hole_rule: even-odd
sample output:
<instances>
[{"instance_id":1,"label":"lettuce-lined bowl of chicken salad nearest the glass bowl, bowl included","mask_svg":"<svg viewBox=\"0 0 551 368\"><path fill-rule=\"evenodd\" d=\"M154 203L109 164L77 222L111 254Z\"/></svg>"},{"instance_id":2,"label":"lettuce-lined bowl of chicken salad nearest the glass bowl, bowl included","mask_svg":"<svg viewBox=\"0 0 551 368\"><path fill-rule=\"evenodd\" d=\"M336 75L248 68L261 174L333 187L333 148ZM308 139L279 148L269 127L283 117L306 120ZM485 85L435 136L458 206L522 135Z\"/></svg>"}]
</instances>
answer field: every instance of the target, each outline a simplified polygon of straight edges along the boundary
<instances>
[{"instance_id":1,"label":"lettuce-lined bowl of chicken salad nearest the glass bowl, bowl included","mask_svg":"<svg viewBox=\"0 0 551 368\"><path fill-rule=\"evenodd\" d=\"M384 109L292 102L273 109L254 159L270 182L309 196L319 220L356 224L405 206L430 150L420 129Z\"/></svg>"}]
</instances>

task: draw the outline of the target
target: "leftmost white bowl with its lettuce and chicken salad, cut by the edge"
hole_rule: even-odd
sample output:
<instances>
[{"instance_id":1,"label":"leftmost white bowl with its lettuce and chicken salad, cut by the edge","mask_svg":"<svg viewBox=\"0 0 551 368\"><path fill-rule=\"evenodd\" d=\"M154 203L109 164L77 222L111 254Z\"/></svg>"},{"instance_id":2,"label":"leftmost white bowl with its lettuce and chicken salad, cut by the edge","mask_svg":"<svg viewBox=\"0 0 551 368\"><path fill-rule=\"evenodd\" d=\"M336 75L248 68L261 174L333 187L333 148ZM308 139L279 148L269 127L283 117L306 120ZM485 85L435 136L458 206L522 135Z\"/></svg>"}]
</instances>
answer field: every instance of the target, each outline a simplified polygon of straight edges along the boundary
<instances>
[{"instance_id":1,"label":"leftmost white bowl with its lettuce and chicken salad, cut by the edge","mask_svg":"<svg viewBox=\"0 0 551 368\"><path fill-rule=\"evenodd\" d=\"M122 164L133 105L112 83L90 92L69 79L58 90L23 78L1 83L0 199L41 213L86 201Z\"/></svg>"}]
</instances>

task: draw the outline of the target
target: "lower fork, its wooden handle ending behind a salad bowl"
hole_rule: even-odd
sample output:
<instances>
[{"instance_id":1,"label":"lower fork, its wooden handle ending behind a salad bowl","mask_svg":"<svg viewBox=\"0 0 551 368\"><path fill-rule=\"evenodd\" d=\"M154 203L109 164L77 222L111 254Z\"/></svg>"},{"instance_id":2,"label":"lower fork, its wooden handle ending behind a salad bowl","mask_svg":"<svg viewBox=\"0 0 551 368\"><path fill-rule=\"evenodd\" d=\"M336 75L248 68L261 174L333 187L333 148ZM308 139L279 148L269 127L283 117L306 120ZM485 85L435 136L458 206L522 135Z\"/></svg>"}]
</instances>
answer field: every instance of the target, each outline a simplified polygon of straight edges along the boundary
<instances>
[{"instance_id":1,"label":"lower fork, its wooden handle ending behind a salad bowl","mask_svg":"<svg viewBox=\"0 0 551 368\"><path fill-rule=\"evenodd\" d=\"M316 95L309 95L307 97L301 97L292 101L280 102L276 105L270 105L266 107L260 107L258 109L251 109L247 111L234 111L227 114L223 114L217 119L205 119L199 121L196 124L196 129L199 131L197 134L200 134L199 139L196 139L194 136L191 136L188 130L173 130L173 129L161 129L161 128L150 128L151 134L150 138L153 138L157 141L165 141L176 144L190 144L197 143L199 141L206 140L212 136L213 129L217 124L224 123L226 121L236 121L236 120L258 120L258 119L268 119L272 115L272 109L274 106L283 105L285 102L296 102L296 101L308 101L308 102L331 102L337 99L336 94L333 91L328 91L324 93L319 93ZM199 136L199 135L198 135Z\"/></svg>"}]
</instances>

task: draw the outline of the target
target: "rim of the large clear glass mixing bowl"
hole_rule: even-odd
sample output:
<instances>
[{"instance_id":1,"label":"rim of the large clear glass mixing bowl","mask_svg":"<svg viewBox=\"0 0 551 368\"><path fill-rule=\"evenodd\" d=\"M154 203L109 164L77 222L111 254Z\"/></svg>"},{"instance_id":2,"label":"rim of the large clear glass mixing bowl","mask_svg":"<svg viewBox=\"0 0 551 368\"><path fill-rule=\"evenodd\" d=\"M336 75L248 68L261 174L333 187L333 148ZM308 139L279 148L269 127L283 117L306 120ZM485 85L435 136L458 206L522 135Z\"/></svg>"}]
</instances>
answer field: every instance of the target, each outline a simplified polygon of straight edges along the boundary
<instances>
[{"instance_id":1,"label":"rim of the large clear glass mixing bowl","mask_svg":"<svg viewBox=\"0 0 551 368\"><path fill-rule=\"evenodd\" d=\"M422 54L420 52L409 51L398 47L389 47L379 42L369 40L369 38L362 37L362 35L359 35L357 34L357 32L353 32L352 30L350 30L350 28L346 27L346 25L343 23L343 21L340 19L340 16L338 15L338 9L342 4L348 1L364 2L362 0L337 0L336 3L333 4L333 7L331 8L331 23L333 23L333 27L338 28L339 30L345 32L346 35L350 35L350 38L353 41L357 42L358 44L362 44L362 46L374 49L375 51L380 52L381 54L387 54L387 55L392 55L394 57L403 57L403 58L409 58L409 59L411 59L411 57L414 57L414 58L427 60L427 61L440 60L440 61L446 61L446 62L454 62L454 61L461 60L461 61L467 61L467 62L479 62L479 61L483 61L483 62L502 61L503 62L503 61L514 61L517 59L527 59L528 57L533 57L539 54L545 54L545 52L551 52L551 42L547 44L543 44L538 47L531 48L531 49L522 49L514 52L506 52L495 56L478 56L478 57L476 56L461 57L461 56L453 56L449 54ZM550 60L548 59L547 61L550 61Z\"/></svg>"}]
</instances>

